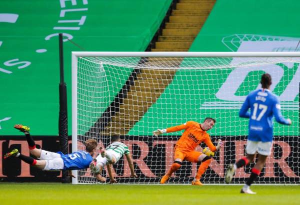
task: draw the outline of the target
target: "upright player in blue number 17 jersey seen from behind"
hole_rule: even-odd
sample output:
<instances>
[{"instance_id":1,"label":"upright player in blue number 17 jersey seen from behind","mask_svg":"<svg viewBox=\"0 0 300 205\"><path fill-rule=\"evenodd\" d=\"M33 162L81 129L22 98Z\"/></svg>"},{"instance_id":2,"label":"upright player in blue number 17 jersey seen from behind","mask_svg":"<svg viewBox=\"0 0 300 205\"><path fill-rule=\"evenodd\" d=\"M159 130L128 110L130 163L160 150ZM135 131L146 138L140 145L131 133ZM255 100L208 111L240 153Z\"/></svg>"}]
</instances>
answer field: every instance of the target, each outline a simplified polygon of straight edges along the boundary
<instances>
[{"instance_id":1,"label":"upright player in blue number 17 jersey seen from behind","mask_svg":"<svg viewBox=\"0 0 300 205\"><path fill-rule=\"evenodd\" d=\"M270 155L273 140L273 117L280 124L291 124L290 119L284 119L281 115L278 97L269 91L272 83L271 76L268 73L263 74L260 83L261 89L251 92L239 111L239 117L249 118L247 155L235 164L228 165L225 173L225 182L229 184L235 170L253 162L256 152L258 153L258 160L251 170L250 177L240 191L245 194L256 194L249 187L259 176L267 156ZM249 108L250 112L248 112Z\"/></svg>"}]
</instances>

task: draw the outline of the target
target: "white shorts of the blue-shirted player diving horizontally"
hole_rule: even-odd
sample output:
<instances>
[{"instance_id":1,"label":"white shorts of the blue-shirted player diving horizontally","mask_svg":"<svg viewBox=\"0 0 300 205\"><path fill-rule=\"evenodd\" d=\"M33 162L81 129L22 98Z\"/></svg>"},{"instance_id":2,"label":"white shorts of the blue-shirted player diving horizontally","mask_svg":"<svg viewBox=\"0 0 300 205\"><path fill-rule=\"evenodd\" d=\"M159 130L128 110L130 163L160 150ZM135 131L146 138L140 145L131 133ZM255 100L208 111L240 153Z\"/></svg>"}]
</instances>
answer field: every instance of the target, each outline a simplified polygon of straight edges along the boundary
<instances>
[{"instance_id":1,"label":"white shorts of the blue-shirted player diving horizontally","mask_svg":"<svg viewBox=\"0 0 300 205\"><path fill-rule=\"evenodd\" d=\"M64 167L63 160L60 155L55 152L41 150L40 158L38 159L46 161L46 165L43 169L45 171L62 170Z\"/></svg>"}]
</instances>

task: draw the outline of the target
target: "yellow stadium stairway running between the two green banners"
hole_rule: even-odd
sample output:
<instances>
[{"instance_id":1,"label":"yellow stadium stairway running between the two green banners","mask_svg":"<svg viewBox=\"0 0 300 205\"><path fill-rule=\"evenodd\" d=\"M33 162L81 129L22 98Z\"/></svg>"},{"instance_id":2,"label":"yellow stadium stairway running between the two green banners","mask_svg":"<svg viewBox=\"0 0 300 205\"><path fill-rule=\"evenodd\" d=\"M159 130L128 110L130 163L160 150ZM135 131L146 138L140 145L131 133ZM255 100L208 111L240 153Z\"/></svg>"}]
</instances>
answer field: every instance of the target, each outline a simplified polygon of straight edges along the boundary
<instances>
[{"instance_id":1,"label":"yellow stadium stairway running between the two green banners","mask_svg":"<svg viewBox=\"0 0 300 205\"><path fill-rule=\"evenodd\" d=\"M155 48L152 48L151 51L187 51L204 24L214 2L215 0L174 0L174 5L171 5L174 9L171 10L170 16L166 16L167 22L162 22L161 26L164 28L159 29L158 38L154 36L157 41ZM152 59L148 58L141 63L143 66L147 66L152 63ZM168 59L161 63L170 66ZM176 67L179 64L180 61L177 61L171 66ZM113 104L99 120L100 122L110 121L110 123L105 125L96 123L90 131L101 132L103 135L127 134L152 103L156 102L165 87L172 81L174 74L174 70L135 69L130 85L127 81L128 89L115 98ZM151 92L151 90L155 90L155 92ZM120 96L124 99L120 100ZM113 111L112 114L111 111ZM128 113L130 114L128 115ZM110 118L111 115L113 116ZM105 129L99 129L104 126Z\"/></svg>"}]
</instances>

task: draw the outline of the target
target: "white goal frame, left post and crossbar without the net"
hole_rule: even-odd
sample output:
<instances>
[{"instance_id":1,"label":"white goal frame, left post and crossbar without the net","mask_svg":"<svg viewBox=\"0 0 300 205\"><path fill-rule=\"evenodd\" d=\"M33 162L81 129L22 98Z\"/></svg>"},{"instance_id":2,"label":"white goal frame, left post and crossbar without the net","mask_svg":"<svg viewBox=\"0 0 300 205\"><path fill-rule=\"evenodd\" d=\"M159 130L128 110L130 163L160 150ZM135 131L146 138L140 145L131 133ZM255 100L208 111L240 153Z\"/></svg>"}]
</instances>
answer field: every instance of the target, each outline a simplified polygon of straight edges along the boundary
<instances>
[{"instance_id":1,"label":"white goal frame, left post and crossbar without the net","mask_svg":"<svg viewBox=\"0 0 300 205\"><path fill-rule=\"evenodd\" d=\"M299 57L300 52L71 52L71 113L72 152L77 151L77 63L78 57ZM299 83L300 93L300 83ZM299 95L300 107L300 95ZM300 115L299 115L300 118ZM77 170L73 170L72 184L78 184ZM223 185L223 184L222 184ZM236 185L236 184L235 184Z\"/></svg>"}]
</instances>

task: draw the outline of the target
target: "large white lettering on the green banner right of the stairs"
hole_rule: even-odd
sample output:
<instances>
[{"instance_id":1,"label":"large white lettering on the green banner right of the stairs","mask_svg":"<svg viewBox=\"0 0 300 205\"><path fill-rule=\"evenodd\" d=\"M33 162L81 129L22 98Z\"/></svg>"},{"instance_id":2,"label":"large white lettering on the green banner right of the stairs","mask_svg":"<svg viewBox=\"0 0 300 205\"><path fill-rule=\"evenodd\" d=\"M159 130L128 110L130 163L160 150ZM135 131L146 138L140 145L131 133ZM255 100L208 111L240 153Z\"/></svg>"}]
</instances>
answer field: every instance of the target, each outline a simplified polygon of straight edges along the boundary
<instances>
[{"instance_id":1,"label":"large white lettering on the green banner right of the stairs","mask_svg":"<svg viewBox=\"0 0 300 205\"><path fill-rule=\"evenodd\" d=\"M239 42L240 45L237 51L285 51L286 49L289 49L288 51L291 51L290 48L293 47L296 48L298 44L298 39L289 39L287 37L285 38L280 36L272 36L272 38L269 39L277 39L277 40L258 40L258 41L249 41L248 40L249 38L246 38L246 41L240 39ZM264 39L268 39L268 38L264 38ZM235 42L235 44L238 43ZM248 60L249 60L248 58L232 58L229 67L233 67L233 65L247 62ZM259 58L259 60L263 61L263 58ZM282 62L282 64L284 64L287 67L287 69L291 69L294 66L293 63ZM272 84L270 86L270 91L272 91L275 88L275 86L280 82L280 80L282 80L284 74L284 70L282 69L282 67L276 64L234 68L232 69L231 73L227 76L225 82L222 84L220 89L215 94L216 98L223 101L204 102L201 105L201 109L240 109L242 102L246 98L246 95L237 96L235 95L235 93L239 89L239 86L244 82L248 73L252 71L264 71L269 73L272 76ZM298 94L299 82L300 82L300 69L298 66L292 80L288 83L284 91L279 96L282 109L284 110L298 109L297 103L288 102L288 101L295 100ZM257 85L256 89L260 87L261 85L259 84Z\"/></svg>"}]
</instances>

